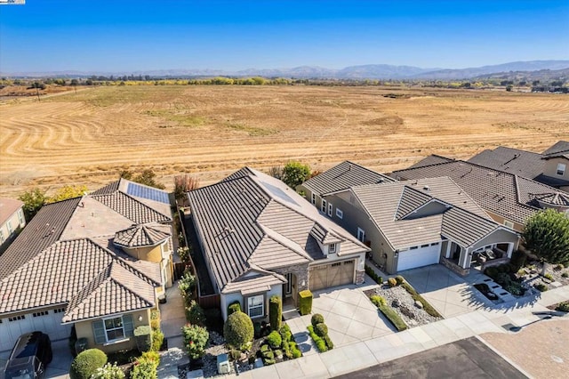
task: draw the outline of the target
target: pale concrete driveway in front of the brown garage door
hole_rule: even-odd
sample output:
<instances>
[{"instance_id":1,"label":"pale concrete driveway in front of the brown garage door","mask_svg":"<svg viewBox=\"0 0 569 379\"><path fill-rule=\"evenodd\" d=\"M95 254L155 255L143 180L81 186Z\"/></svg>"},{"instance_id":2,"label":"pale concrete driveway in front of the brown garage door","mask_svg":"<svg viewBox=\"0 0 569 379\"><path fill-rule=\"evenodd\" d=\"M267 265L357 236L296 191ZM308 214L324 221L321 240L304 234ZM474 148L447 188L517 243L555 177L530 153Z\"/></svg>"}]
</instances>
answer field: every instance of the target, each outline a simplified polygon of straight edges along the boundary
<instances>
[{"instance_id":1,"label":"pale concrete driveway in front of the brown garage door","mask_svg":"<svg viewBox=\"0 0 569 379\"><path fill-rule=\"evenodd\" d=\"M334 346L341 347L395 332L389 321L362 292L373 286L376 285L367 278L363 286L338 286L313 293L312 314L324 316ZM286 320L295 338L306 338L304 332L310 325L311 316Z\"/></svg>"}]
</instances>

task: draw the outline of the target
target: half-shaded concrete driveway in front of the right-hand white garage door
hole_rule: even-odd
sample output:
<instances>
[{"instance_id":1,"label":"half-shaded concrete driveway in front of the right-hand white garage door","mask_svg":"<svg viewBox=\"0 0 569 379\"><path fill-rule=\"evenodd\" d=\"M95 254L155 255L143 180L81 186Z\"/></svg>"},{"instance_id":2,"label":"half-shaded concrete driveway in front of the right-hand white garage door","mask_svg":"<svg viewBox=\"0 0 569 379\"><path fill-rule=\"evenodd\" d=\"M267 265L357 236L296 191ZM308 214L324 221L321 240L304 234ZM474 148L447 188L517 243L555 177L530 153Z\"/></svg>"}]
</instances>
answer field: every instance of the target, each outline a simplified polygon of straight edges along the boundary
<instances>
[{"instance_id":1,"label":"half-shaded concrete driveway in front of the right-hand white garage door","mask_svg":"<svg viewBox=\"0 0 569 379\"><path fill-rule=\"evenodd\" d=\"M482 276L475 270L468 277L461 278L442 264L434 264L400 274L445 319L493 305L471 286Z\"/></svg>"}]
</instances>

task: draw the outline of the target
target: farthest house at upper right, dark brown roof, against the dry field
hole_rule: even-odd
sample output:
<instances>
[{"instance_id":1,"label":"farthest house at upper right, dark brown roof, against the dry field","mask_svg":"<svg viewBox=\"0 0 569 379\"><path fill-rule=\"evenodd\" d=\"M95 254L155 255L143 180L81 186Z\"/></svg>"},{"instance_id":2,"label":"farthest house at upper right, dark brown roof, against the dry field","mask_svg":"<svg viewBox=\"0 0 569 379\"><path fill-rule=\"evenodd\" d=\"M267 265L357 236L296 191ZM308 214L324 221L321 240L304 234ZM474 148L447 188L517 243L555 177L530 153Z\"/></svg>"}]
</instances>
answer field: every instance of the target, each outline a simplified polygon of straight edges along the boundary
<instances>
[{"instance_id":1,"label":"farthest house at upper right, dark brown roof, against the dry field","mask_svg":"<svg viewBox=\"0 0 569 379\"><path fill-rule=\"evenodd\" d=\"M550 187L569 191L569 142L557 141L542 153L500 146L484 150L470 163L533 179Z\"/></svg>"}]
</instances>

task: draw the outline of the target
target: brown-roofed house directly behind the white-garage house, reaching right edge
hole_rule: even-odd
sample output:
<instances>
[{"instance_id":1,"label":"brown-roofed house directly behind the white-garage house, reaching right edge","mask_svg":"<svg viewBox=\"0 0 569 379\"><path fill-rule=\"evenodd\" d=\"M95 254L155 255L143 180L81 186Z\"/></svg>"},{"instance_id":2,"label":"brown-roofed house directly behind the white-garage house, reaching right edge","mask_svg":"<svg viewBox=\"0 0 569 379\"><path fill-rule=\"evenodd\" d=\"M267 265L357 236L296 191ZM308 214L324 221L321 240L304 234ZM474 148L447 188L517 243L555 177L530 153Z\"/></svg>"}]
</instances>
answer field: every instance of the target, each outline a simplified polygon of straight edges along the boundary
<instances>
[{"instance_id":1,"label":"brown-roofed house directly behind the white-garage house, reaching right edge","mask_svg":"<svg viewBox=\"0 0 569 379\"><path fill-rule=\"evenodd\" d=\"M495 222L521 231L525 220L544 208L569 211L569 194L515 173L447 157L430 156L394 171L398 181L449 176Z\"/></svg>"}]
</instances>

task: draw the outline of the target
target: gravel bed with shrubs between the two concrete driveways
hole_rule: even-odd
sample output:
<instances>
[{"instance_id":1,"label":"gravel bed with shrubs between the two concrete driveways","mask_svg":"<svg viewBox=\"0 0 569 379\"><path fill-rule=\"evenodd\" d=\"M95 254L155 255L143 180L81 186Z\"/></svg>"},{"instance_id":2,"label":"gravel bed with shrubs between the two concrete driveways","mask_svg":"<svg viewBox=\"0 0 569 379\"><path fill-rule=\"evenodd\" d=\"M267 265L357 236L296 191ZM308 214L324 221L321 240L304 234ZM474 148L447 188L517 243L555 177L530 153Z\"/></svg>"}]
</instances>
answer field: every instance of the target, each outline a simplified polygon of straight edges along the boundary
<instances>
[{"instance_id":1,"label":"gravel bed with shrubs between the two concrete driveways","mask_svg":"<svg viewBox=\"0 0 569 379\"><path fill-rule=\"evenodd\" d=\"M389 287L383 285L379 288L364 291L364 293L368 297L373 294L378 294L383 297L387 301L387 304L401 316L408 327L419 327L441 319L433 317L425 310L417 307L411 294L402 286Z\"/></svg>"}]
</instances>

